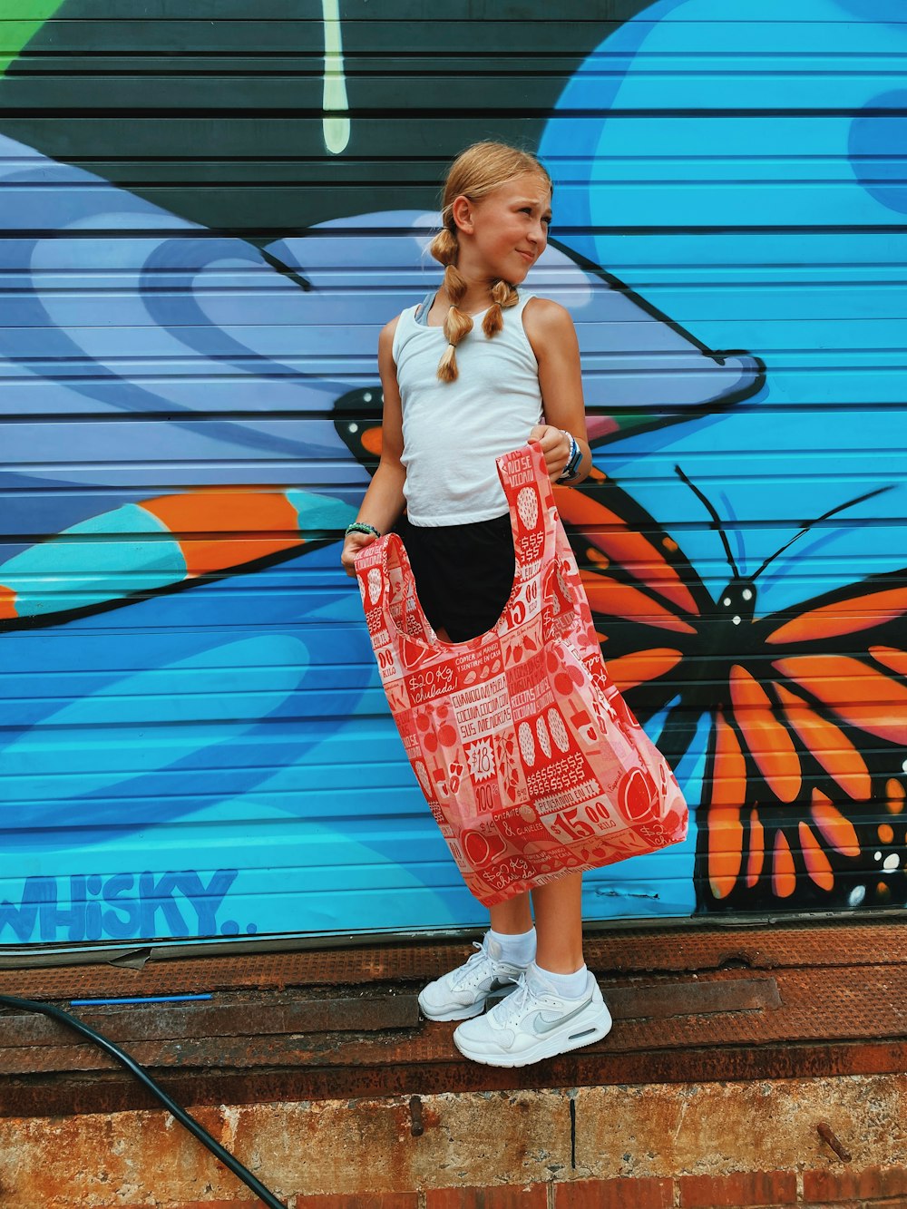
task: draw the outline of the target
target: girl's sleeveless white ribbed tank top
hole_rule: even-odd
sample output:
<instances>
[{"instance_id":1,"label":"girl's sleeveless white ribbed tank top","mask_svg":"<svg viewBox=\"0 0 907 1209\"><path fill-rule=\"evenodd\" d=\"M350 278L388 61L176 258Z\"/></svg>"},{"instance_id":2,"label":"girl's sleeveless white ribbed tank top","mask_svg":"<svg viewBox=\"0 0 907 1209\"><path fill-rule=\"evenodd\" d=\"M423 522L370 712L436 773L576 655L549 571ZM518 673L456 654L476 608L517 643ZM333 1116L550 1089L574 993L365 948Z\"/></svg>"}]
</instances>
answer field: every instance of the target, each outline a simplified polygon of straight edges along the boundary
<instances>
[{"instance_id":1,"label":"girl's sleeveless white ribbed tank top","mask_svg":"<svg viewBox=\"0 0 907 1209\"><path fill-rule=\"evenodd\" d=\"M400 314L393 359L412 525L470 525L508 510L495 458L525 445L542 422L538 361L522 326L533 296L520 294L491 339L481 330L485 312L473 316L473 330L457 345L456 382L438 378L447 341L441 328L416 319L423 303Z\"/></svg>"}]
</instances>

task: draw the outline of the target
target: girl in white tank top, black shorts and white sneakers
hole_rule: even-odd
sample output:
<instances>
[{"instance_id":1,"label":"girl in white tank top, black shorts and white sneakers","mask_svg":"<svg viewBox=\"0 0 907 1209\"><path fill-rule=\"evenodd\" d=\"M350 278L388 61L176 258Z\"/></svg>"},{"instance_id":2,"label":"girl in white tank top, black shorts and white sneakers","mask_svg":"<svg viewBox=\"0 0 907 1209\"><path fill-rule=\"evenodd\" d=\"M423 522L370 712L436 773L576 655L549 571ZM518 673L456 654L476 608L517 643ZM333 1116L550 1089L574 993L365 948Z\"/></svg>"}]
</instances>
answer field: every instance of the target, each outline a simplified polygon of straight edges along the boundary
<instances>
[{"instance_id":1,"label":"girl in white tank top, black shorts and white sneakers","mask_svg":"<svg viewBox=\"0 0 907 1209\"><path fill-rule=\"evenodd\" d=\"M499 143L463 151L431 245L444 280L379 341L381 462L341 559L353 575L357 554L397 523L422 607L447 642L491 629L513 585L495 458L536 441L551 480L571 484L591 464L573 322L518 291L545 249L550 207L535 156ZM479 951L424 988L426 1017L466 1022L454 1032L466 1057L521 1066L606 1035L611 1016L583 961L580 893L574 873L535 889L531 904L522 893L491 907Z\"/></svg>"}]
</instances>

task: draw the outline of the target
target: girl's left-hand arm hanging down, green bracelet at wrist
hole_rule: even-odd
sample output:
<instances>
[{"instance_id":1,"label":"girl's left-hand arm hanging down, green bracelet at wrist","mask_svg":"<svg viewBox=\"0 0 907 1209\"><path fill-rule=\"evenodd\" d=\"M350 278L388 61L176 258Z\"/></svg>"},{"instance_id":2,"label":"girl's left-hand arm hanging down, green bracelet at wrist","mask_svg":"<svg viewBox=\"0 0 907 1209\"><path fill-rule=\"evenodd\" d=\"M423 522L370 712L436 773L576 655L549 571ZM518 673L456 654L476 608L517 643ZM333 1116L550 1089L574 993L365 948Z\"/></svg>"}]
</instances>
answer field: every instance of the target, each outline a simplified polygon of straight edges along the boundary
<instances>
[{"instance_id":1,"label":"girl's left-hand arm hanging down, green bracelet at wrist","mask_svg":"<svg viewBox=\"0 0 907 1209\"><path fill-rule=\"evenodd\" d=\"M400 389L397 384L397 366L392 352L395 330L397 319L392 319L382 328L379 337L379 370L385 398L381 418L381 461L356 517L358 521L374 526L380 533L387 533L403 511L403 484L406 479L406 472L400 462L403 407L400 406ZM369 533L348 534L340 556L348 575L356 574L353 566L356 555L374 540L375 537Z\"/></svg>"}]
</instances>

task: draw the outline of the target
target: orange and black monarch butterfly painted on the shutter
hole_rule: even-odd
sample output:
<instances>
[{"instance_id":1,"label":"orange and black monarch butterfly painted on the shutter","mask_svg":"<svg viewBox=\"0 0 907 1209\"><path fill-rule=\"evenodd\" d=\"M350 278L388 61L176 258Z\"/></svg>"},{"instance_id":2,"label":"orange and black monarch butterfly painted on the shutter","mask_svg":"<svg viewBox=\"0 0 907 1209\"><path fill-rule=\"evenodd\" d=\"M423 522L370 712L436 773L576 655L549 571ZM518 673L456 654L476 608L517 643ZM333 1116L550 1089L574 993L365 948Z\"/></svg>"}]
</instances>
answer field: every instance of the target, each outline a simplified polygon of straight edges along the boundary
<instances>
[{"instance_id":1,"label":"orange and black monarch butterfly painted on the shutter","mask_svg":"<svg viewBox=\"0 0 907 1209\"><path fill-rule=\"evenodd\" d=\"M558 488L608 670L676 767L707 719L700 909L891 906L907 895L907 567L761 614L758 580L826 511L707 591L678 543L596 470Z\"/></svg>"}]
</instances>

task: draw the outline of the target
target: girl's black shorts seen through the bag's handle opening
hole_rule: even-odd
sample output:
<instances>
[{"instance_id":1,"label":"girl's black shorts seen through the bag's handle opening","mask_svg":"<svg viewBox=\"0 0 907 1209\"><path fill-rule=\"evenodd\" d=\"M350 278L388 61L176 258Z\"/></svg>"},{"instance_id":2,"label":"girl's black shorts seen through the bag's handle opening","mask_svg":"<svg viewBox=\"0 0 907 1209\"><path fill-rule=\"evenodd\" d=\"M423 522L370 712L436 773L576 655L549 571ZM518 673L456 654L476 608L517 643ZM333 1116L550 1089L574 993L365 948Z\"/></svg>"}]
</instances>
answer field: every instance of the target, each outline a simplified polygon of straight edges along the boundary
<instances>
[{"instance_id":1,"label":"girl's black shorts seen through the bag's handle opening","mask_svg":"<svg viewBox=\"0 0 907 1209\"><path fill-rule=\"evenodd\" d=\"M510 514L473 525L395 525L412 565L416 591L432 629L451 642L490 630L513 590Z\"/></svg>"}]
</instances>

